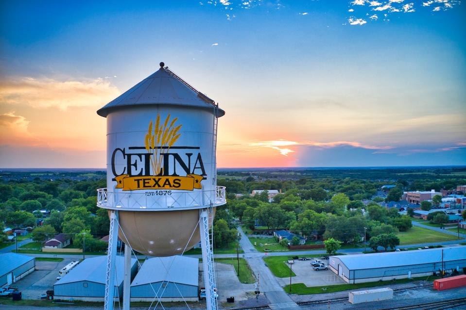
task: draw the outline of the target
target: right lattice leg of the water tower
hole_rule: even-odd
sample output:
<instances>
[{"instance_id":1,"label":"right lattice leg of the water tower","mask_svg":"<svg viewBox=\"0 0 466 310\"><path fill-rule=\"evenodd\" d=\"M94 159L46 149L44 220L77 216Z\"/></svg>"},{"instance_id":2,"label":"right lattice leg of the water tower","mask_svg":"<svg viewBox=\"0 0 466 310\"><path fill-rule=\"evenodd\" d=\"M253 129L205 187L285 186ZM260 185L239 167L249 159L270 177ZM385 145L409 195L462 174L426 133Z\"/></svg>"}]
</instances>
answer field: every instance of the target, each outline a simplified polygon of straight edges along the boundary
<instances>
[{"instance_id":1,"label":"right lattice leg of the water tower","mask_svg":"<svg viewBox=\"0 0 466 310\"><path fill-rule=\"evenodd\" d=\"M217 300L215 298L214 288L214 265L213 254L210 248L209 237L209 220L208 209L203 209L200 214L199 228L201 231L201 249L202 249L202 265L204 269L204 285L206 286L206 302L207 310L217 310Z\"/></svg>"}]
</instances>

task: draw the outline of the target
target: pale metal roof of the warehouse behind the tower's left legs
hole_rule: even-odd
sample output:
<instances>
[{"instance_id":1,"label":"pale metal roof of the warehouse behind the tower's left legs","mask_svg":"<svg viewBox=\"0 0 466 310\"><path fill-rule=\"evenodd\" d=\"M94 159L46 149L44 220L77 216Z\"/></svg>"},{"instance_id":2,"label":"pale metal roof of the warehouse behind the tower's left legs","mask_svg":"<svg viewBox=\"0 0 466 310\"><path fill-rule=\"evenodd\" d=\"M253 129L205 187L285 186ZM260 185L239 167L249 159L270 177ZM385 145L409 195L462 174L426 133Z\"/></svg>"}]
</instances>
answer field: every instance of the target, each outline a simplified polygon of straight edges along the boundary
<instances>
[{"instance_id":1,"label":"pale metal roof of the warehouse behind the tower's left legs","mask_svg":"<svg viewBox=\"0 0 466 310\"><path fill-rule=\"evenodd\" d=\"M131 267L136 264L136 259L131 259ZM117 269L115 286L120 286L124 276L124 258L116 257ZM107 270L107 256L92 257L81 261L76 267L64 277L55 282L54 285L72 283L78 281L89 281L105 284L105 272Z\"/></svg>"}]
</instances>

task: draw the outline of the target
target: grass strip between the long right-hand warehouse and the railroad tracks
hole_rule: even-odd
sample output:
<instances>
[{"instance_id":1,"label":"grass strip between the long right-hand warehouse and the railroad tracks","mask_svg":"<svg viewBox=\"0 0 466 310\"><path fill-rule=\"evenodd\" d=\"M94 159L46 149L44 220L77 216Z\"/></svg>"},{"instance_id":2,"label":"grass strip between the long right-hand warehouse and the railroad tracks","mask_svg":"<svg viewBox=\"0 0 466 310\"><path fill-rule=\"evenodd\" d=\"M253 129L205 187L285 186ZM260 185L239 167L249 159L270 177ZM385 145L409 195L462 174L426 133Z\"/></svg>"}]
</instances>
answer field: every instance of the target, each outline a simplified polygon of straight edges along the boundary
<instances>
[{"instance_id":1,"label":"grass strip between the long right-hand warehouse and the railroad tracks","mask_svg":"<svg viewBox=\"0 0 466 310\"><path fill-rule=\"evenodd\" d=\"M416 277L411 279L397 279L397 280L389 280L389 281L377 281L377 282L366 282L366 283L356 283L356 284L337 284L337 285L328 285L328 286L311 286L308 287L304 283L294 283L291 285L291 293L298 294L298 295L308 295L308 294L322 294L322 293L334 293L334 292L341 292L346 290L355 290L355 289L362 289L362 288L369 288L375 286L385 286L389 284L400 284L400 283L409 283L414 282L416 280L435 280L440 277ZM290 285L286 285L283 287L285 292L290 292Z\"/></svg>"}]
</instances>

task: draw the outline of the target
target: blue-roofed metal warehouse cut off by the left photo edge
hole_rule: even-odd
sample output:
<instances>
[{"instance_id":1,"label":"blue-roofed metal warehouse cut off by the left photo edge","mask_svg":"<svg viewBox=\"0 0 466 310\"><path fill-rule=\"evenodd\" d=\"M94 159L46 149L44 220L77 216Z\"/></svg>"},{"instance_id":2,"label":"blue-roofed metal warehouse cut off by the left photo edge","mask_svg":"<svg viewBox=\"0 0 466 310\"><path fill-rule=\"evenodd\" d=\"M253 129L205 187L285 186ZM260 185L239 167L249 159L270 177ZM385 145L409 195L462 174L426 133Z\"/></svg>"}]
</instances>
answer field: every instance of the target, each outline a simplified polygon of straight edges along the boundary
<instances>
[{"instance_id":1,"label":"blue-roofed metal warehouse cut off by the left photo edge","mask_svg":"<svg viewBox=\"0 0 466 310\"><path fill-rule=\"evenodd\" d=\"M34 257L16 253L0 254L0 287L15 283L34 270Z\"/></svg>"}]
</instances>

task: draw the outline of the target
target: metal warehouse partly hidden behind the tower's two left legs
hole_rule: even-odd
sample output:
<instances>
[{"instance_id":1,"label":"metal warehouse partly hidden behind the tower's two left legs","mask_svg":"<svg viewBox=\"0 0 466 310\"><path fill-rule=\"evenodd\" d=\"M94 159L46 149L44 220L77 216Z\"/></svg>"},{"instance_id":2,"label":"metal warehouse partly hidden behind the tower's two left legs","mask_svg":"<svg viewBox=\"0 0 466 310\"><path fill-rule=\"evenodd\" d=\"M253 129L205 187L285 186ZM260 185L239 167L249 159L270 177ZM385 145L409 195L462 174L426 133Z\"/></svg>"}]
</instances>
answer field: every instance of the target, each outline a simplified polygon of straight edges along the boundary
<instances>
[{"instance_id":1,"label":"metal warehouse partly hidden behind the tower's two left legs","mask_svg":"<svg viewBox=\"0 0 466 310\"><path fill-rule=\"evenodd\" d=\"M115 261L115 299L123 296L124 258L117 256ZM137 272L137 261L131 259L131 278ZM105 272L107 257L88 258L55 282L55 299L74 299L85 301L104 301Z\"/></svg>"}]
</instances>

